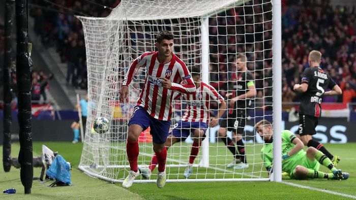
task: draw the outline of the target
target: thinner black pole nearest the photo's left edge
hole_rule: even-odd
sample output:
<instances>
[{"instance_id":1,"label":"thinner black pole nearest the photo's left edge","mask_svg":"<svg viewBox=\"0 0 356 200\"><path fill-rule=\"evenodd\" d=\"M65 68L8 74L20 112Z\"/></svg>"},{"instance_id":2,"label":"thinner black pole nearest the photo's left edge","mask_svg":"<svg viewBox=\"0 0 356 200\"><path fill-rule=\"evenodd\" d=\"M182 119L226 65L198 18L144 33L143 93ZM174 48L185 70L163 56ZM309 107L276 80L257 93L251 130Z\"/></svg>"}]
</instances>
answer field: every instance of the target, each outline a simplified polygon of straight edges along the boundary
<instances>
[{"instance_id":1,"label":"thinner black pole nearest the photo's left edge","mask_svg":"<svg viewBox=\"0 0 356 200\"><path fill-rule=\"evenodd\" d=\"M4 140L3 140L3 166L5 172L11 169L11 101L12 93L10 89L11 75L11 58L12 58L12 41L11 33L13 27L14 0L5 2L5 60L4 60Z\"/></svg>"}]
</instances>

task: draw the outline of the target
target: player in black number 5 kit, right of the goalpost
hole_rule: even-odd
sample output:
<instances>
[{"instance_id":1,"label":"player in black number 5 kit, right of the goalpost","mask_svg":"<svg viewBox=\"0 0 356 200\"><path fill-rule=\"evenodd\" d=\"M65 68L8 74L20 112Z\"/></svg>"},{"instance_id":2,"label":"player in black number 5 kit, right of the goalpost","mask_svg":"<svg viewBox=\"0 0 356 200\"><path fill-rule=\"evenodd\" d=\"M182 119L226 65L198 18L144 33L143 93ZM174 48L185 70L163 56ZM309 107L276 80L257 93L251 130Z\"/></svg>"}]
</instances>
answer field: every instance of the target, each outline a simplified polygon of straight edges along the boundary
<instances>
[{"instance_id":1,"label":"player in black number 5 kit, right of the goalpost","mask_svg":"<svg viewBox=\"0 0 356 200\"><path fill-rule=\"evenodd\" d=\"M314 147L327 155L336 165L340 158L333 156L322 144L314 141L312 135L316 134L315 127L321 116L321 102L324 95L340 95L342 91L334 80L319 67L321 53L311 51L309 53L309 66L305 69L301 84L295 84L294 91L303 92L301 95L301 106L299 109L299 133L298 137L304 145ZM330 91L326 91L331 89Z\"/></svg>"}]
</instances>

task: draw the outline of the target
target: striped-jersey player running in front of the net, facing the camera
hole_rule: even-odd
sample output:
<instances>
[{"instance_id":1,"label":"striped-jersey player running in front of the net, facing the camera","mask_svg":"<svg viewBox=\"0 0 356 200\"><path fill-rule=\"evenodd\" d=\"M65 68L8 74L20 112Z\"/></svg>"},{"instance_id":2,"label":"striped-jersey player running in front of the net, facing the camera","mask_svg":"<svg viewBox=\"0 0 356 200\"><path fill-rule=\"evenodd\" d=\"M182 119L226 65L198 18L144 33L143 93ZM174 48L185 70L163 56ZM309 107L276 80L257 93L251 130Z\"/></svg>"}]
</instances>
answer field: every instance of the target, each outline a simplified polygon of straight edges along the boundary
<instances>
[{"instance_id":1,"label":"striped-jersey player running in front of the net, facing the camera","mask_svg":"<svg viewBox=\"0 0 356 200\"><path fill-rule=\"evenodd\" d=\"M139 153L138 137L141 132L151 127L153 150L157 155L157 186L162 188L166 183L167 140L172 115L173 92L193 93L196 88L186 64L173 53L173 35L161 31L156 38L158 51L145 52L131 64L120 90L120 102L127 101L129 84L140 67L146 68L147 76L141 90L134 113L129 121L126 152L130 171L123 182L123 187L131 187L139 175L137 158Z\"/></svg>"}]
</instances>

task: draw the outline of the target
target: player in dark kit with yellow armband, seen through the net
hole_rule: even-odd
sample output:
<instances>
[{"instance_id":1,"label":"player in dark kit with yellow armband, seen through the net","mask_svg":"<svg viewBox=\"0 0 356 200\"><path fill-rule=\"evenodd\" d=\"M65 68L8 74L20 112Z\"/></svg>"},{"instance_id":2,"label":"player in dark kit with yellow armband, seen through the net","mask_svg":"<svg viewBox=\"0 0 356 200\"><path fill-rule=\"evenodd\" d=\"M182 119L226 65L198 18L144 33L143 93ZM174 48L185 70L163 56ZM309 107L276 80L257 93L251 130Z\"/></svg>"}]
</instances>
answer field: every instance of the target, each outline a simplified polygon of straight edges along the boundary
<instances>
[{"instance_id":1,"label":"player in dark kit with yellow armband, seen through the net","mask_svg":"<svg viewBox=\"0 0 356 200\"><path fill-rule=\"evenodd\" d=\"M227 164L227 168L244 169L248 168L245 144L242 140L246 125L246 108L251 105L251 99L255 97L256 89L252 74L247 71L246 55L237 55L235 61L236 74L232 76L233 82L228 82L228 90L231 91L228 91L228 94L231 94L228 97L229 109L226 117L220 123L219 137L234 155L234 159ZM232 131L239 152L236 151L234 142L227 137L227 130Z\"/></svg>"}]
</instances>

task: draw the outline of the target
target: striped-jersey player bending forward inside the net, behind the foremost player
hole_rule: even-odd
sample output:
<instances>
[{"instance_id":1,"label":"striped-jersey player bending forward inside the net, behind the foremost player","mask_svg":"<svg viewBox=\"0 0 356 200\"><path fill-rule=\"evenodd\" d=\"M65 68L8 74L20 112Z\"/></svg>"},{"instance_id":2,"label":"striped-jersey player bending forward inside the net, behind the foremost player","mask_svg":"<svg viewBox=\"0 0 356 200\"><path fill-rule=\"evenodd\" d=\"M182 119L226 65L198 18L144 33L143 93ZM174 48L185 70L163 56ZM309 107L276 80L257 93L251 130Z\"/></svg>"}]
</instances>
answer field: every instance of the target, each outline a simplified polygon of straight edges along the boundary
<instances>
[{"instance_id":1,"label":"striped-jersey player bending forward inside the net, behind the foremost player","mask_svg":"<svg viewBox=\"0 0 356 200\"><path fill-rule=\"evenodd\" d=\"M193 138L193 145L189 155L189 162L184 171L184 177L189 178L192 175L192 166L194 159L199 153L202 140L205 138L205 131L208 126L218 125L220 117L226 111L226 103L224 98L215 90L215 88L207 83L200 81L199 73L192 73L196 92L194 94L174 94L174 99L183 97L183 101L187 104L186 110L180 121L174 124L170 135L165 143L166 148L169 148L177 142L184 142L189 136ZM215 117L210 118L210 102L216 101L219 106L219 111ZM154 155L148 167L139 166L139 171L143 178L150 178L151 173L159 166L157 156Z\"/></svg>"}]
</instances>

